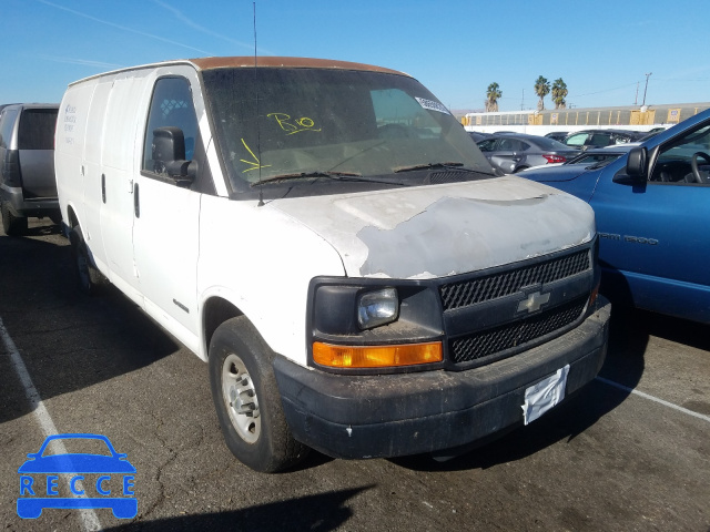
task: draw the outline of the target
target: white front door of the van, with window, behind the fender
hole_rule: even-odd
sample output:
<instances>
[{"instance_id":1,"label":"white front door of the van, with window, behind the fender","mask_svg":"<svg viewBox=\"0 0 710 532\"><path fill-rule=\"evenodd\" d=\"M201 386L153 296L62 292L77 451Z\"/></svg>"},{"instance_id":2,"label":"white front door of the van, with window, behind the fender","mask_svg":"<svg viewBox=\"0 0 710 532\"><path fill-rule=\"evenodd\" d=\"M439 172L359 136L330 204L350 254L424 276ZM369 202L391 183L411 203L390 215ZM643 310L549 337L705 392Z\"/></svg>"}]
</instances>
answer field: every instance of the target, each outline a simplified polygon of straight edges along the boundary
<instances>
[{"instance_id":1,"label":"white front door of the van, with window, behind the fender","mask_svg":"<svg viewBox=\"0 0 710 532\"><path fill-rule=\"evenodd\" d=\"M163 78L163 79L161 79ZM200 100L196 73L190 66L156 69L144 83L135 133L134 188L140 215L133 222L133 256L145 310L182 342L197 350L197 256L201 193L159 178L150 164L152 130L184 127L194 145L193 100ZM151 114L152 110L152 114ZM154 122L149 122L153 116ZM156 121L156 122L155 122ZM150 161L143 167L143 154ZM206 168L205 168L206 170Z\"/></svg>"}]
</instances>

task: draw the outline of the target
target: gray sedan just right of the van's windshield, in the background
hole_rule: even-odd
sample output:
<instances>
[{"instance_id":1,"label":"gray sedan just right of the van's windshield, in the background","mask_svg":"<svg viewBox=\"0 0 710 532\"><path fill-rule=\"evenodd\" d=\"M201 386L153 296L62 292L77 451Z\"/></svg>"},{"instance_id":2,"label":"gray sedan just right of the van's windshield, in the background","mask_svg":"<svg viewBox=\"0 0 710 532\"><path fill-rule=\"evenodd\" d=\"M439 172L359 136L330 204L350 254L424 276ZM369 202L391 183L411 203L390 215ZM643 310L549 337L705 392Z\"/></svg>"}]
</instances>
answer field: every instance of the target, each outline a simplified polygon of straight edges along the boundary
<instances>
[{"instance_id":1,"label":"gray sedan just right of the van's windshield, in the background","mask_svg":"<svg viewBox=\"0 0 710 532\"><path fill-rule=\"evenodd\" d=\"M579 155L578 150L538 135L497 133L477 144L493 167L506 174L515 174L531 166L564 163Z\"/></svg>"}]
</instances>

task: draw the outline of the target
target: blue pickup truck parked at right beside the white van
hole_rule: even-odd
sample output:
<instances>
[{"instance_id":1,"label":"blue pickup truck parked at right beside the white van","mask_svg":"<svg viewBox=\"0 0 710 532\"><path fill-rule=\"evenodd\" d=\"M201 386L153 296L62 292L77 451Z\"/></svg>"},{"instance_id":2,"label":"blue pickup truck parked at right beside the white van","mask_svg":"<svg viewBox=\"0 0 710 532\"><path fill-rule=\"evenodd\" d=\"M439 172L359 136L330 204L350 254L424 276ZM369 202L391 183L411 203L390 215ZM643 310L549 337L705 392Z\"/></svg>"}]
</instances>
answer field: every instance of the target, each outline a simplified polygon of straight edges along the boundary
<instances>
[{"instance_id":1,"label":"blue pickup truck parked at right beside the white van","mask_svg":"<svg viewBox=\"0 0 710 532\"><path fill-rule=\"evenodd\" d=\"M613 303L710 324L710 110L609 150L519 175L592 206Z\"/></svg>"}]
</instances>

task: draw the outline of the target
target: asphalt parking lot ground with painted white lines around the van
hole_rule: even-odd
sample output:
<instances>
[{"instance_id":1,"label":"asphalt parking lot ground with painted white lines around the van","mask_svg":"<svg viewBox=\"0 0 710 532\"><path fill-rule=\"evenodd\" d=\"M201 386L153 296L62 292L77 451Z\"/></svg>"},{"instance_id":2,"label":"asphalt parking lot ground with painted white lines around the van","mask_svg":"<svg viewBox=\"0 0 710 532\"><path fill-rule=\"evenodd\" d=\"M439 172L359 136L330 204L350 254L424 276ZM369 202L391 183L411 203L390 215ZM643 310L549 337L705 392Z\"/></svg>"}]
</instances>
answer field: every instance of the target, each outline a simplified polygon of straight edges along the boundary
<instances>
[{"instance_id":1,"label":"asphalt parking lot ground with painted white lines around the van","mask_svg":"<svg viewBox=\"0 0 710 532\"><path fill-rule=\"evenodd\" d=\"M118 291L80 295L49 222L0 234L0 319L4 530L710 530L707 326L615 309L599 379L466 456L312 452L264 475L224 446L207 366ZM18 516L18 468L48 428L104 434L128 454L134 520L104 509Z\"/></svg>"}]
</instances>

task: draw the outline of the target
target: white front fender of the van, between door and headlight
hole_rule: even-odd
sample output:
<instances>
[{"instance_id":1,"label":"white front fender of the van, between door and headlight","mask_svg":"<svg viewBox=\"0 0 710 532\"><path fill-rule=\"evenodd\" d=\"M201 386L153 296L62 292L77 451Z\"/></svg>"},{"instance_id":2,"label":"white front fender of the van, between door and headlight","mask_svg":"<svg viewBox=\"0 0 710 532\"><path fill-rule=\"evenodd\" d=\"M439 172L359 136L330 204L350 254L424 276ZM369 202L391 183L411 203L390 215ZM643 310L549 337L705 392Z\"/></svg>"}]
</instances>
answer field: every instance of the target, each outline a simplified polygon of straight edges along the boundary
<instances>
[{"instance_id":1,"label":"white front fender of the van, between door and headlight","mask_svg":"<svg viewBox=\"0 0 710 532\"><path fill-rule=\"evenodd\" d=\"M200 300L230 300L274 351L302 366L308 283L317 275L345 275L343 262L298 221L256 201L202 196Z\"/></svg>"}]
</instances>

